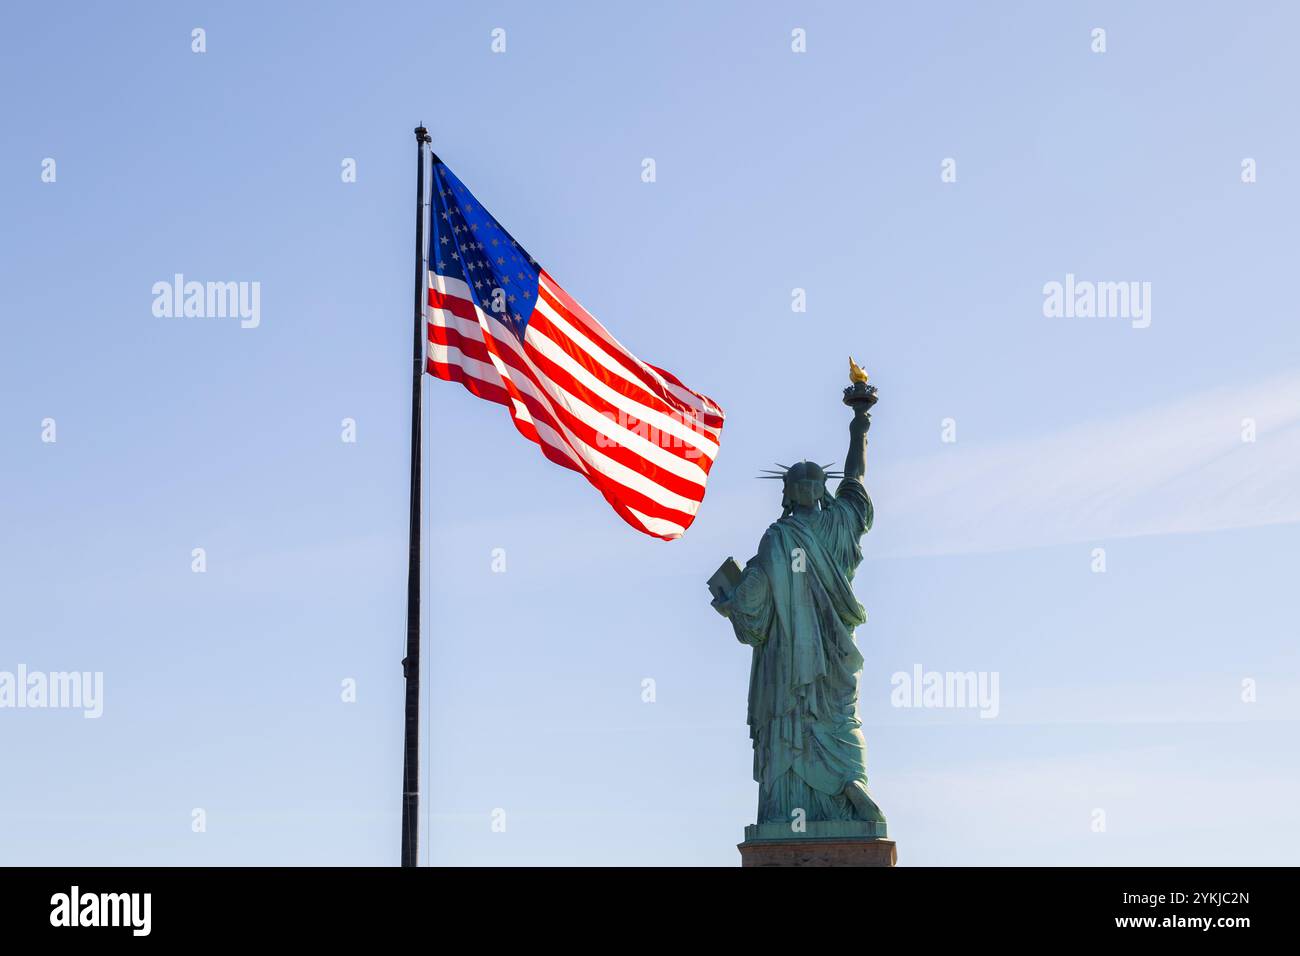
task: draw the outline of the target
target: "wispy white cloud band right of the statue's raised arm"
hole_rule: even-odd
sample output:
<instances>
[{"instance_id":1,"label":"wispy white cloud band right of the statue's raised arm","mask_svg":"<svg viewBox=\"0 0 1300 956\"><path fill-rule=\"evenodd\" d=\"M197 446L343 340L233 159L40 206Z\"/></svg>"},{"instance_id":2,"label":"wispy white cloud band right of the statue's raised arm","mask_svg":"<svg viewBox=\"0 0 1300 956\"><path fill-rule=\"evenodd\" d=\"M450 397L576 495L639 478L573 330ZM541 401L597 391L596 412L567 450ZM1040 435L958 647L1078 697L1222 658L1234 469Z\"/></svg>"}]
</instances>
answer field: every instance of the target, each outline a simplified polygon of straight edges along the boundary
<instances>
[{"instance_id":1,"label":"wispy white cloud band right of the statue's raised arm","mask_svg":"<svg viewBox=\"0 0 1300 956\"><path fill-rule=\"evenodd\" d=\"M1256 441L1243 441L1253 419ZM1300 520L1300 372L1036 438L896 466L876 557L961 554Z\"/></svg>"}]
</instances>

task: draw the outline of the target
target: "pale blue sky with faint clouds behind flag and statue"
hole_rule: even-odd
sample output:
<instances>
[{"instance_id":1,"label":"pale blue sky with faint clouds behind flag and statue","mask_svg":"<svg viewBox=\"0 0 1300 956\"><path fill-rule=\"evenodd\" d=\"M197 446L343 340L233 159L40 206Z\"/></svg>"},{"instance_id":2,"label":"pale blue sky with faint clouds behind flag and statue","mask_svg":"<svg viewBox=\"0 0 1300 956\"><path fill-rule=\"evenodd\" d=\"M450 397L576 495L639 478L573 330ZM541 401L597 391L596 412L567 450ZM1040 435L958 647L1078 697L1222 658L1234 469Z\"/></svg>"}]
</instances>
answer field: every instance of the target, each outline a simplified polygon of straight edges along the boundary
<instances>
[{"instance_id":1,"label":"pale blue sky with faint clouds behind flag and statue","mask_svg":"<svg viewBox=\"0 0 1300 956\"><path fill-rule=\"evenodd\" d=\"M852 352L881 394L859 709L900 864L1294 862L1297 30L1286 4L13 10L0 671L101 671L104 713L0 709L0 862L396 862L421 121L728 412L663 542L426 381L426 860L738 862L749 650L703 581L779 514L759 468L842 457ZM260 325L156 317L177 272L260 282ZM1150 325L1046 317L1067 274L1149 282ZM916 665L997 672L998 715L892 706Z\"/></svg>"}]
</instances>

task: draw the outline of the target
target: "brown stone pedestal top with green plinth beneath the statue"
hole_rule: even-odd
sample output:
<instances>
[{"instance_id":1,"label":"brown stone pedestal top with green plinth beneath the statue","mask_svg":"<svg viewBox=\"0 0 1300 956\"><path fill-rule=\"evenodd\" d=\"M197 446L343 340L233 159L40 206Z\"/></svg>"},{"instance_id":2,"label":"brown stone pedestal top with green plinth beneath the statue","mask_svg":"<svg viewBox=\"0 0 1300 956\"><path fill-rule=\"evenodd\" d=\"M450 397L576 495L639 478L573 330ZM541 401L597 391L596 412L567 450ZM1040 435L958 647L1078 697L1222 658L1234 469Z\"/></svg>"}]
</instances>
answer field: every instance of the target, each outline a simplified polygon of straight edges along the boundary
<instances>
[{"instance_id":1,"label":"brown stone pedestal top with green plinth beneath the statue","mask_svg":"<svg viewBox=\"0 0 1300 956\"><path fill-rule=\"evenodd\" d=\"M745 827L737 844L741 866L894 866L897 844L884 823L823 821L793 832L785 823Z\"/></svg>"}]
</instances>

